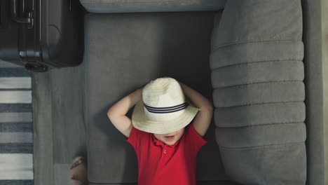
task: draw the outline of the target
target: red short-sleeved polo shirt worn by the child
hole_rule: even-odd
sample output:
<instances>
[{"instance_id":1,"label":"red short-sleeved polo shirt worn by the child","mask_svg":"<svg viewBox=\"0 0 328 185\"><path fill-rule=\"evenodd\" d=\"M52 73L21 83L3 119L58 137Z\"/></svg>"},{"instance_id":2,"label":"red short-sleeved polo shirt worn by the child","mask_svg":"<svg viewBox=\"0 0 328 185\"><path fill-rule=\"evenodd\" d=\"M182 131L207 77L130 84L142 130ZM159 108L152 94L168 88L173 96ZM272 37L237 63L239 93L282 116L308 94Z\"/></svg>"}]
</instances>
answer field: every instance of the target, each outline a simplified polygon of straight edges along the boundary
<instances>
[{"instance_id":1,"label":"red short-sleeved polo shirt worn by the child","mask_svg":"<svg viewBox=\"0 0 328 185\"><path fill-rule=\"evenodd\" d=\"M149 132L132 127L126 141L138 159L138 185L196 185L196 157L208 142L189 124L175 144L160 142Z\"/></svg>"}]
</instances>

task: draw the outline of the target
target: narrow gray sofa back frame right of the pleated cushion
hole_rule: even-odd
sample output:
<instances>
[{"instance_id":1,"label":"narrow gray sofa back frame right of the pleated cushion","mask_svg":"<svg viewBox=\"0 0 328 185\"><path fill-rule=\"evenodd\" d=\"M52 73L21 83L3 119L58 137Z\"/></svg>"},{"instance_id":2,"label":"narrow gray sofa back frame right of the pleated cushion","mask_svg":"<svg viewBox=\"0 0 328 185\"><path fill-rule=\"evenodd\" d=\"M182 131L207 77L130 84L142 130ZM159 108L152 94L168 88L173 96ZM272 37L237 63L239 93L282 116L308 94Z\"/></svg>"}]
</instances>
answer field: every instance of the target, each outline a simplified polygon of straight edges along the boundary
<instances>
[{"instance_id":1,"label":"narrow gray sofa back frame right of the pleated cushion","mask_svg":"<svg viewBox=\"0 0 328 185\"><path fill-rule=\"evenodd\" d=\"M324 109L324 81L322 78L322 56L327 50L322 48L324 41L327 41L327 33L324 33L322 27L327 25L327 18L322 18L322 11L327 9L322 7L327 4L320 0L303 0L303 41L304 47L304 69L306 84L306 155L307 155L307 178L306 184L328 184L327 168L328 155L324 156L327 150L328 142L324 142L327 137L327 108ZM327 55L327 54L326 54ZM327 64L327 63L326 63ZM327 73L327 72L326 72ZM327 76L327 74L324 74ZM326 91L327 92L327 91ZM326 100L327 101L327 100ZM324 110L326 114L324 114ZM324 120L326 116L326 120Z\"/></svg>"}]
</instances>

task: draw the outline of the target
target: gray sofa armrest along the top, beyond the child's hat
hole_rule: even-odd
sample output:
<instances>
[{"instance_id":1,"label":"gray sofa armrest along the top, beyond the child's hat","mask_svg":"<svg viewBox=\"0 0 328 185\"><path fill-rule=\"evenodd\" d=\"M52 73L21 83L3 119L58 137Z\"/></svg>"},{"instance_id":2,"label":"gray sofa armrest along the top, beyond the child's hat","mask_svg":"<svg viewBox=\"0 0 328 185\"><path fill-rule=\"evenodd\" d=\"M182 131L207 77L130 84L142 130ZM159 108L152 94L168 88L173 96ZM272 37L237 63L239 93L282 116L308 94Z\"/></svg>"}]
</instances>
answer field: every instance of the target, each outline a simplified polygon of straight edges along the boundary
<instances>
[{"instance_id":1,"label":"gray sofa armrest along the top, beyond the child's hat","mask_svg":"<svg viewBox=\"0 0 328 185\"><path fill-rule=\"evenodd\" d=\"M90 13L219 11L226 0L80 0Z\"/></svg>"}]
</instances>

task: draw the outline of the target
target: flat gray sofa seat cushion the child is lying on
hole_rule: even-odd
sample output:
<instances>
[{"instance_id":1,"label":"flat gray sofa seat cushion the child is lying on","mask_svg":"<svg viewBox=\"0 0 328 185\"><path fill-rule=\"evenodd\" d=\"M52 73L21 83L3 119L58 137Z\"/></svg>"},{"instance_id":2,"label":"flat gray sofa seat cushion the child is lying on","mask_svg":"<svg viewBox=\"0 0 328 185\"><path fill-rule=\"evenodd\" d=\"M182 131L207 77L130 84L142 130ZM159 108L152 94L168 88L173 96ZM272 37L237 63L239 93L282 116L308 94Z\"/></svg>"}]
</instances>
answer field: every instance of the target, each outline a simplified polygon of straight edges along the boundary
<instances>
[{"instance_id":1,"label":"flat gray sofa seat cushion the child is lying on","mask_svg":"<svg viewBox=\"0 0 328 185\"><path fill-rule=\"evenodd\" d=\"M155 78L170 76L212 101L213 21L213 12L86 15L84 116L90 182L137 182L135 151L107 117L108 109L121 98ZM132 110L126 114L129 118ZM196 179L230 181L222 167L214 123L207 135L209 142L198 153Z\"/></svg>"}]
</instances>

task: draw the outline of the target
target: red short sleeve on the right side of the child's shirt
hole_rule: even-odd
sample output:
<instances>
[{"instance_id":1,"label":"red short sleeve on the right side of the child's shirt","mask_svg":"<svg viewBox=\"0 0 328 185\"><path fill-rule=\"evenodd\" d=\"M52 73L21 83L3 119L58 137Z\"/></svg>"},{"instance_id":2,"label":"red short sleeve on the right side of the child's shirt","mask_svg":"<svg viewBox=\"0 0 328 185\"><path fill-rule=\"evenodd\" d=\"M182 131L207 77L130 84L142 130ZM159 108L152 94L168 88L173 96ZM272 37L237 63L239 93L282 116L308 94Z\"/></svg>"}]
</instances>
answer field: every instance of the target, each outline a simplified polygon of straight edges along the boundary
<instances>
[{"instance_id":1,"label":"red short sleeve on the right side of the child's shirt","mask_svg":"<svg viewBox=\"0 0 328 185\"><path fill-rule=\"evenodd\" d=\"M192 123L189 125L189 128L186 132L186 139L190 141L190 147L195 152L198 152L200 148L208 142L207 134L205 134L203 137L199 135L196 129L193 127Z\"/></svg>"}]
</instances>

